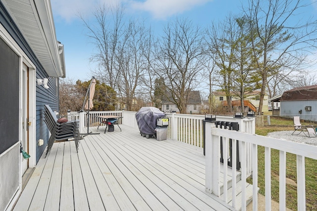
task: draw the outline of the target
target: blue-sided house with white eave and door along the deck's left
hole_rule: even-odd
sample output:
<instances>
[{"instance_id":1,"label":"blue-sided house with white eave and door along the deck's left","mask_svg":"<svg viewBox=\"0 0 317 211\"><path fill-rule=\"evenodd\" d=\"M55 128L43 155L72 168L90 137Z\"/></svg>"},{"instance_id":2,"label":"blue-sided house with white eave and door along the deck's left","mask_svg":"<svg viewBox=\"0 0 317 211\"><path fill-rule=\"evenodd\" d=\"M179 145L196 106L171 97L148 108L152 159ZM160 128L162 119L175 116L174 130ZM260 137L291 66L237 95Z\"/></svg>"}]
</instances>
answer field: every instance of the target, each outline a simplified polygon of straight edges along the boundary
<instances>
[{"instance_id":1,"label":"blue-sided house with white eave and door along the deck's left","mask_svg":"<svg viewBox=\"0 0 317 211\"><path fill-rule=\"evenodd\" d=\"M58 111L63 45L56 41L50 0L0 1L0 211L11 210L22 175L49 139L44 105ZM48 79L38 85L37 79ZM39 146L39 139L44 144ZM20 145L31 157L24 159Z\"/></svg>"}]
</instances>

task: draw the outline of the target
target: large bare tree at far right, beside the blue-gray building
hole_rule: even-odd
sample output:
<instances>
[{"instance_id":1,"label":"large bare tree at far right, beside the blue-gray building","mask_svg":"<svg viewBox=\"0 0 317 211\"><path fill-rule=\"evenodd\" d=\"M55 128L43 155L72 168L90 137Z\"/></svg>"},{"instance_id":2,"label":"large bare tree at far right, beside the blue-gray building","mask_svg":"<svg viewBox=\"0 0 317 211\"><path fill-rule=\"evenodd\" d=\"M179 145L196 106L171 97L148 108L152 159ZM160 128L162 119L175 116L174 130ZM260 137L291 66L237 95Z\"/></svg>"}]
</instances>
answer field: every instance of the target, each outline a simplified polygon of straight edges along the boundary
<instances>
[{"instance_id":1,"label":"large bare tree at far right, beside the blue-gray building","mask_svg":"<svg viewBox=\"0 0 317 211\"><path fill-rule=\"evenodd\" d=\"M261 74L259 113L262 112L270 67L284 66L294 70L316 49L317 21L300 16L307 4L302 0L249 0L244 8L250 18L252 50L256 68ZM258 45L258 44L261 45Z\"/></svg>"}]
</instances>

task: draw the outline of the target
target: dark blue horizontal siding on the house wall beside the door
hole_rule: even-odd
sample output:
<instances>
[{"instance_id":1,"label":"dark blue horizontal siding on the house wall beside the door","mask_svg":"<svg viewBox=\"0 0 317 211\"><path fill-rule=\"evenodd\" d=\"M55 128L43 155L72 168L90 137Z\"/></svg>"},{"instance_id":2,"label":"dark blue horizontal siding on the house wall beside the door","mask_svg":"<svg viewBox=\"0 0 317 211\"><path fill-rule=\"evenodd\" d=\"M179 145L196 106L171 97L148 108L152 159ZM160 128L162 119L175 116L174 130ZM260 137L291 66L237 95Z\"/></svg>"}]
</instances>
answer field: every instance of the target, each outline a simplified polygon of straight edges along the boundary
<instances>
[{"instance_id":1,"label":"dark blue horizontal siding on the house wall beside the door","mask_svg":"<svg viewBox=\"0 0 317 211\"><path fill-rule=\"evenodd\" d=\"M32 51L27 41L19 31L18 27L14 23L14 20L10 17L6 11L4 5L0 1L0 24L10 34L13 40L18 44L22 51L28 56L28 58L36 66L36 78L49 78L49 89L45 89L43 86L36 87L36 141L43 139L45 141L43 146L37 146L36 149L36 162L38 162L42 153L45 150L47 141L49 139L49 130L44 123L44 105L48 104L52 106L53 110L58 110L58 95L56 95L56 89L58 94L58 87L56 87L55 78L50 78L43 68L42 64L37 59L35 53ZM1 54L1 53L0 53ZM58 79L57 79L58 80ZM18 86L18 84L16 84ZM7 109L2 107L1 109ZM18 126L17 126L18 127Z\"/></svg>"}]
</instances>

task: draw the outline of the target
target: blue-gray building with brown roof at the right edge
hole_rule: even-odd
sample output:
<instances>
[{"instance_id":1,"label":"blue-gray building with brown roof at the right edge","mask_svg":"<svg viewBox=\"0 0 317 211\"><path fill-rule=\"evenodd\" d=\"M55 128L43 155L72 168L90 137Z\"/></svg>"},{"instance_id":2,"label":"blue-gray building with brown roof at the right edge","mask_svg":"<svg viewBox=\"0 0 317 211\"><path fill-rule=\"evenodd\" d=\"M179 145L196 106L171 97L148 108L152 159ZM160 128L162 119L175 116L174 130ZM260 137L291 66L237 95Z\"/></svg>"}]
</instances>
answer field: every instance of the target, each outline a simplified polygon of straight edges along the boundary
<instances>
[{"instance_id":1,"label":"blue-gray building with brown roof at the right edge","mask_svg":"<svg viewBox=\"0 0 317 211\"><path fill-rule=\"evenodd\" d=\"M301 119L317 121L317 85L297 87L283 93L280 115L299 115Z\"/></svg>"}]
</instances>

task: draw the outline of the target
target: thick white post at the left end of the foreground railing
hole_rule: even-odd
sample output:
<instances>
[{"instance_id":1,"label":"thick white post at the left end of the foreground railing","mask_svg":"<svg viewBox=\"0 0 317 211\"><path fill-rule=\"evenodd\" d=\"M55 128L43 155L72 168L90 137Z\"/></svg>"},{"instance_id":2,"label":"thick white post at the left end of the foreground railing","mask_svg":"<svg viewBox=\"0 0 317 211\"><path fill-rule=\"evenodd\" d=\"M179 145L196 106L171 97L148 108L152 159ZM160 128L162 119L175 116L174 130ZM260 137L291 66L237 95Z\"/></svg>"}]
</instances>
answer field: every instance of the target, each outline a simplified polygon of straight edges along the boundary
<instances>
[{"instance_id":1,"label":"thick white post at the left end of the foreground railing","mask_svg":"<svg viewBox=\"0 0 317 211\"><path fill-rule=\"evenodd\" d=\"M206 191L220 197L220 141L218 136L211 134L214 122L206 121Z\"/></svg>"}]
</instances>

